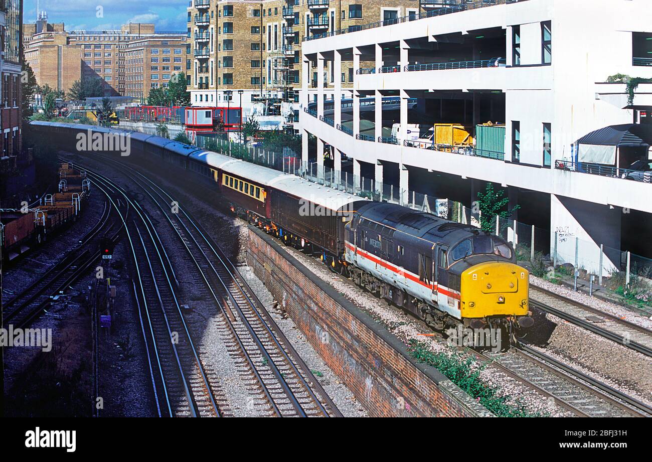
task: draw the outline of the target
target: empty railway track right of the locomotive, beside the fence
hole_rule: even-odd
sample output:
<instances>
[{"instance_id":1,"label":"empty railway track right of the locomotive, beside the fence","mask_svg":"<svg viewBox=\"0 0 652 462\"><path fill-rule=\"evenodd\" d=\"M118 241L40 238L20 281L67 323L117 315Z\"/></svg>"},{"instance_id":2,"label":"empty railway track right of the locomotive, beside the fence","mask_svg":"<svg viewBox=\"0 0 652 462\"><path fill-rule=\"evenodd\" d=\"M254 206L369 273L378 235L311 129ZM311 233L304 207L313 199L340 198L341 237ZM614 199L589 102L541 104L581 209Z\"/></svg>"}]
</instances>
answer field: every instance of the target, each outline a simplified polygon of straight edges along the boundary
<instances>
[{"instance_id":1,"label":"empty railway track right of the locomotive, beside the fence","mask_svg":"<svg viewBox=\"0 0 652 462\"><path fill-rule=\"evenodd\" d=\"M532 285L530 306L646 356L652 356L652 330Z\"/></svg>"}]
</instances>

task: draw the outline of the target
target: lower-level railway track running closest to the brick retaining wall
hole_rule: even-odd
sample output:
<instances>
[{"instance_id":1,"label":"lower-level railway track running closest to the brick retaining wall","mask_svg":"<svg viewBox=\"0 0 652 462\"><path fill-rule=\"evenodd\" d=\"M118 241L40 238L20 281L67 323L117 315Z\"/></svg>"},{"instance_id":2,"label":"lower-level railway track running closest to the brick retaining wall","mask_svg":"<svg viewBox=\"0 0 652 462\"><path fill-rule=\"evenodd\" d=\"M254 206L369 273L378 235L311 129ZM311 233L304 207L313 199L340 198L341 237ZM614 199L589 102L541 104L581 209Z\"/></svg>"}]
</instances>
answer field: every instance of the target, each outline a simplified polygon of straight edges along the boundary
<instances>
[{"instance_id":1,"label":"lower-level railway track running closest to the brick retaining wall","mask_svg":"<svg viewBox=\"0 0 652 462\"><path fill-rule=\"evenodd\" d=\"M197 221L182 208L172 213L173 199L167 192L140 172L116 163L131 172L125 175L166 217L198 268L207 298L213 298L222 313L220 334L240 362L243 379L256 384L256 405L276 416L342 416L237 268Z\"/></svg>"}]
</instances>

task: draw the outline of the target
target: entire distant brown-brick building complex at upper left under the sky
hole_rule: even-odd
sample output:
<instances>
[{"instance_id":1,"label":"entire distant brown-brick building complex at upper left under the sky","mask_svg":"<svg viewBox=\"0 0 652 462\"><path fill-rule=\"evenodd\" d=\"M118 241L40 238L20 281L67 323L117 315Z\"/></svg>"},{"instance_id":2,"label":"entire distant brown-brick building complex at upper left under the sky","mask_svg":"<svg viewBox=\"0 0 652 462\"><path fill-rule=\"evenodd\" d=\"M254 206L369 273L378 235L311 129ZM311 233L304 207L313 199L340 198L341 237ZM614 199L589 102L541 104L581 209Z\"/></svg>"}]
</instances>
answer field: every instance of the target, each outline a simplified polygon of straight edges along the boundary
<instances>
[{"instance_id":1,"label":"entire distant brown-brick building complex at upper left under the sky","mask_svg":"<svg viewBox=\"0 0 652 462\"><path fill-rule=\"evenodd\" d=\"M172 50L171 69L176 64L173 56L181 57L183 67L185 46L184 33L155 31L154 24L129 23L115 31L65 31L63 24L51 25L46 17L36 24L25 24L25 60L35 72L39 85L68 91L76 80L99 78L104 84L104 96L135 96L134 93L149 93L151 87L151 58L145 64L145 50ZM34 33L29 35L32 31ZM173 43L167 48L163 42ZM130 47L134 44L133 47ZM174 55L181 48L181 54ZM142 57L132 55L129 66L130 78L127 80L127 52L143 52ZM161 59L163 55L161 55ZM167 58L167 57L166 57ZM136 66L136 59L142 59L141 66ZM166 67L167 67L166 63ZM141 74L137 74L136 69ZM168 72L166 72L167 74ZM146 74L146 75L145 75ZM158 83L165 83L160 79Z\"/></svg>"}]
</instances>

